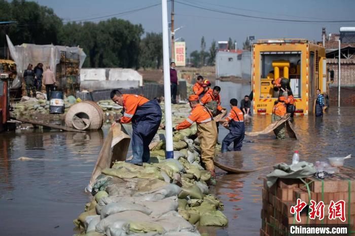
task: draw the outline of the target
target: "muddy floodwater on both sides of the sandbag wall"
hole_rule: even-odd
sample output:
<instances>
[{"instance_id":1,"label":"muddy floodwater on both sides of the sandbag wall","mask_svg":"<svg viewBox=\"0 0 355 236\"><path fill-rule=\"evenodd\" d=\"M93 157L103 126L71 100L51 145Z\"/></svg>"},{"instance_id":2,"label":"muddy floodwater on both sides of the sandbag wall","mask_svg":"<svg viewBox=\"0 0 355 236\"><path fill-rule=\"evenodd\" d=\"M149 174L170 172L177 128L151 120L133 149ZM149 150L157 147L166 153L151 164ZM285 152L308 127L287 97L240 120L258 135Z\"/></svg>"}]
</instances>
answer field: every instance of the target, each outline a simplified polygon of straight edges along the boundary
<instances>
[{"instance_id":1,"label":"muddy floodwater on both sides of the sandbag wall","mask_svg":"<svg viewBox=\"0 0 355 236\"><path fill-rule=\"evenodd\" d=\"M235 86L239 99L250 92L245 85ZM221 87L222 92L227 88L229 91L222 97L222 105L227 106L233 97L233 87L228 83ZM229 224L224 228L200 228L200 232L259 235L262 178L271 166L290 163L295 150L300 151L302 160L309 162L355 155L354 116L353 107L331 107L319 119L312 115L298 116L294 121L297 141L278 141L272 133L246 136L242 151L229 152L219 161L237 168L266 168L242 175L227 175L218 169L218 184L212 193L223 201ZM270 116L254 115L246 130L260 131L270 123ZM75 234L73 219L90 200L84 188L108 129L105 126L103 131L85 134L49 130L0 134L0 235ZM220 142L226 134L227 130L220 128ZM21 156L38 160L16 160ZM355 166L355 159L345 163Z\"/></svg>"}]
</instances>

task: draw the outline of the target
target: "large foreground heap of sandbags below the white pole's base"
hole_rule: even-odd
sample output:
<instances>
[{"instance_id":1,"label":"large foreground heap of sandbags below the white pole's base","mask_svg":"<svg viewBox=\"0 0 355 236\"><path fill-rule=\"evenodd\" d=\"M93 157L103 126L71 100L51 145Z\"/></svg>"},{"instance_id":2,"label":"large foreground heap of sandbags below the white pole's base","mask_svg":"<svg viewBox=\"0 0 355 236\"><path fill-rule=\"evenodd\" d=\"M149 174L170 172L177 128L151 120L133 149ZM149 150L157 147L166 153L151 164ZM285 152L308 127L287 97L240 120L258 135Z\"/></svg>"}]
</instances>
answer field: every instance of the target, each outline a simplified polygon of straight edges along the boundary
<instances>
[{"instance_id":1,"label":"large foreground heap of sandbags below the white pole's base","mask_svg":"<svg viewBox=\"0 0 355 236\"><path fill-rule=\"evenodd\" d=\"M209 179L183 157L143 166L116 162L98 176L94 199L74 224L81 235L200 235L198 224L228 222L223 204L209 194Z\"/></svg>"}]
</instances>

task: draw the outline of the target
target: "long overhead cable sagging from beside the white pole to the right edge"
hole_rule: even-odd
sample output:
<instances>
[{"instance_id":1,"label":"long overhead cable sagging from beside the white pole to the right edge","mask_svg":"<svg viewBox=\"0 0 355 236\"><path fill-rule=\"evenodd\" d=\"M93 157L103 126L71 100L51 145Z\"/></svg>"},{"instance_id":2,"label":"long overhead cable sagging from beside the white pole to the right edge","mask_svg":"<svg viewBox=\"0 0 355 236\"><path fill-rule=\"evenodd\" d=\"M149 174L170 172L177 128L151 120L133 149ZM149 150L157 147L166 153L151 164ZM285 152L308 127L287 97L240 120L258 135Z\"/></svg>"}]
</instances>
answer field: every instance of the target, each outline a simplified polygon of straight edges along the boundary
<instances>
[{"instance_id":1,"label":"long overhead cable sagging from beside the white pole to the right edge","mask_svg":"<svg viewBox=\"0 0 355 236\"><path fill-rule=\"evenodd\" d=\"M238 13L232 13L232 12L226 12L222 10L217 10L217 9L210 9L206 7L199 7L187 3L182 3L179 1L176 1L176 3L185 5L185 6L190 6L193 8L197 9L202 9L205 11L210 11L210 12L217 12L217 13L222 13L222 14L227 14L227 15L233 15L233 16L241 16L241 17L247 17L247 18L254 18L254 19L263 19L263 20L273 20L273 21L285 21L285 22L308 22L308 23L350 23L350 22L355 22L355 20L322 20L322 21L317 21L317 20L290 20L290 19L279 19L279 18L271 18L271 17L259 17L259 16L251 16L251 15L245 15L245 14L238 14Z\"/></svg>"}]
</instances>

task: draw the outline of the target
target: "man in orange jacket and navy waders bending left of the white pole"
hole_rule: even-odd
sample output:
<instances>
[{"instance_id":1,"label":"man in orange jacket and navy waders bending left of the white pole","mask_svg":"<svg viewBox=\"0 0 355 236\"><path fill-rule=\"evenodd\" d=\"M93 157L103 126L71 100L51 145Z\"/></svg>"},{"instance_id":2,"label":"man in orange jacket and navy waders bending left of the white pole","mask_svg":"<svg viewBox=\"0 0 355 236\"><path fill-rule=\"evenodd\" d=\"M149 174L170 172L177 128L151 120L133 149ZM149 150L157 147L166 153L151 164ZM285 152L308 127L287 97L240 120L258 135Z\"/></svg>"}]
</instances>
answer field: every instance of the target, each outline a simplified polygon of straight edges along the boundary
<instances>
[{"instance_id":1,"label":"man in orange jacket and navy waders bending left of the white pole","mask_svg":"<svg viewBox=\"0 0 355 236\"><path fill-rule=\"evenodd\" d=\"M149 144L158 131L162 116L158 101L135 94L122 94L119 90L111 91L111 99L123 106L124 113L119 122L122 124L132 122L133 159L126 162L136 165L148 162Z\"/></svg>"}]
</instances>

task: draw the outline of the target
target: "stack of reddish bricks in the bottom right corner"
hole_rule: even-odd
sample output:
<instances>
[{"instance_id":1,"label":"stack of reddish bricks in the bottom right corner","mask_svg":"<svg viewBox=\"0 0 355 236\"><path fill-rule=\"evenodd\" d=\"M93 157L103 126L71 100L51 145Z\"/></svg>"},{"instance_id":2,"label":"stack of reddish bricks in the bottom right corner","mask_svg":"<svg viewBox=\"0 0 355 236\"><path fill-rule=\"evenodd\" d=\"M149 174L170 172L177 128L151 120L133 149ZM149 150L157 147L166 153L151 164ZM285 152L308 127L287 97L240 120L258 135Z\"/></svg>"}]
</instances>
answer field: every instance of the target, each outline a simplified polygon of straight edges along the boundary
<instances>
[{"instance_id":1,"label":"stack of reddish bricks in the bottom right corner","mask_svg":"<svg viewBox=\"0 0 355 236\"><path fill-rule=\"evenodd\" d=\"M308 183L309 193L303 181ZM261 236L288 235L288 228L291 224L346 224L349 225L351 232L355 230L355 169L342 167L339 168L339 174L327 177L323 181L315 177L303 178L303 181L279 178L269 188L266 184L266 178L264 179ZM301 199L307 204L300 214L300 223L290 212L291 207L296 205L297 199ZM319 220L318 217L315 219L308 217L310 200L316 203L324 202L325 217L323 221ZM335 203L339 200L345 201L345 222L338 218L335 220L328 219L328 207L331 200ZM355 232L349 235L355 235Z\"/></svg>"}]
</instances>

